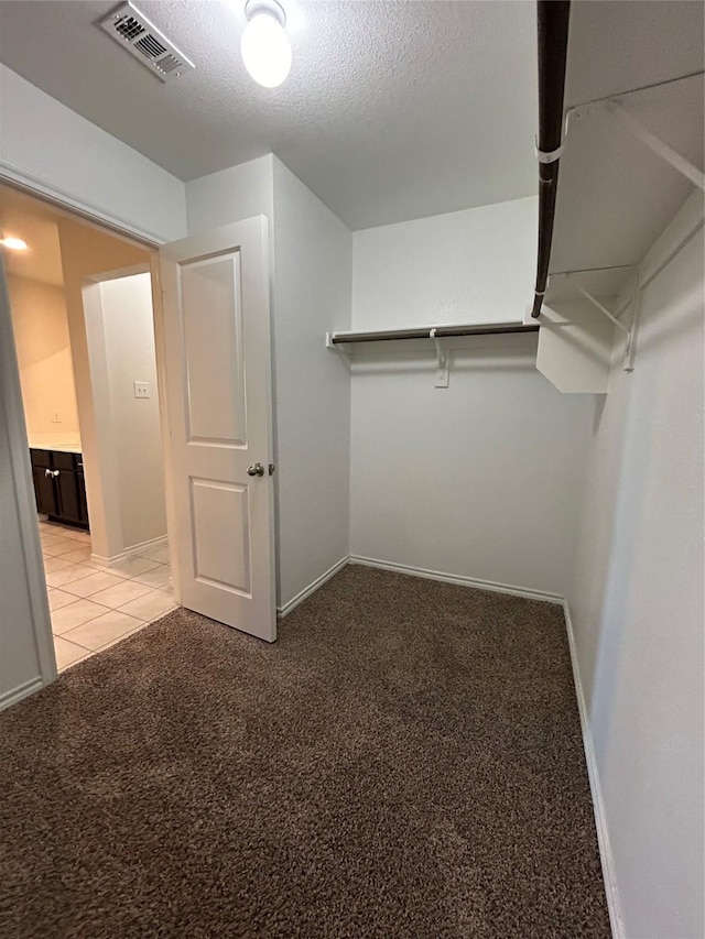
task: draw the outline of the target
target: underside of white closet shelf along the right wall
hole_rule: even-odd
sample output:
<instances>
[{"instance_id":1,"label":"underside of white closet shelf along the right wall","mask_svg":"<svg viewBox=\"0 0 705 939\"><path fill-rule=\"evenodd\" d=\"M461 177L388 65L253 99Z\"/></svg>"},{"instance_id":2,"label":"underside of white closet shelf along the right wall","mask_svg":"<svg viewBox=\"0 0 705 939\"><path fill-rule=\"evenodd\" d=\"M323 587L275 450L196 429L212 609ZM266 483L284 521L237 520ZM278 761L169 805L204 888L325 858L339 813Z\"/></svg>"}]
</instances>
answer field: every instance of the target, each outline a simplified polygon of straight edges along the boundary
<instances>
[{"instance_id":1,"label":"underside of white closet shelf along the right wall","mask_svg":"<svg viewBox=\"0 0 705 939\"><path fill-rule=\"evenodd\" d=\"M620 98L650 131L703 167L705 4L653 0L592 0L571 10L566 107L660 87ZM672 81L672 79L682 80ZM604 106L570 122L561 159L551 272L638 264L693 192ZM581 282L599 296L619 293L621 270ZM549 303L571 295L552 277ZM575 292L573 292L575 295Z\"/></svg>"}]
</instances>

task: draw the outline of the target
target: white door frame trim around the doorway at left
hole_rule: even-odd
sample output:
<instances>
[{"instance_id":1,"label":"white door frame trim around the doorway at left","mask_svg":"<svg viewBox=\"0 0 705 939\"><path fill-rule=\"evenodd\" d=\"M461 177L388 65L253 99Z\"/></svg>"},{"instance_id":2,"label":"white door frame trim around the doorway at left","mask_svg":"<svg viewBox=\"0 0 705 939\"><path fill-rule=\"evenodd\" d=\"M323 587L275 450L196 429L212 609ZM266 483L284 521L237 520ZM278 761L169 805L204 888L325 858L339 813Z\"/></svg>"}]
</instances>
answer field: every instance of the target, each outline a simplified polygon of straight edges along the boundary
<instances>
[{"instance_id":1,"label":"white door frame trim around the doorway at left","mask_svg":"<svg viewBox=\"0 0 705 939\"><path fill-rule=\"evenodd\" d=\"M34 179L32 179L34 184ZM164 348L164 308L162 304L161 277L159 267L159 249L162 243L152 241L138 228L127 225L124 220L116 218L108 212L98 210L95 206L76 199L51 185L36 181L36 185L28 185L24 179L18 179L6 167L0 167L0 185L17 189L37 201L45 203L59 212L65 212L68 218L93 225L97 229L107 231L113 237L137 244L150 253L150 273L152 280L152 308L154 314L154 346L156 353L156 372L160 403L165 402L165 348ZM36 502L34 498L34 484L32 482L32 468L30 463L30 450L24 421L24 405L20 385L20 371L14 347L14 332L12 329L12 315L10 309L10 296L6 286L0 285L0 293L7 298L7 309L0 309L0 390L2 391L2 403L0 406L6 412L8 427L8 440L10 444L10 462L13 473L14 492L18 505L18 520L20 526L20 538L24 555L26 571L28 596L32 610L32 632L37 653L41 680L31 681L26 687L22 686L11 692L11 701L39 690L41 687L51 685L57 677L56 656L54 654L54 637L52 633L52 621L48 609L48 591L44 578L44 561L42 545L40 541L40 528L36 518ZM6 301L0 296L1 306ZM161 407L161 404L160 404ZM162 414L162 444L169 440L169 411L166 404L161 410ZM166 498L166 534L171 539L174 528L173 505L173 470L171 456L164 447L164 489ZM171 550L171 549L170 549ZM181 591L177 575L172 571L174 600L181 605ZM7 706L3 702L2 706Z\"/></svg>"}]
</instances>

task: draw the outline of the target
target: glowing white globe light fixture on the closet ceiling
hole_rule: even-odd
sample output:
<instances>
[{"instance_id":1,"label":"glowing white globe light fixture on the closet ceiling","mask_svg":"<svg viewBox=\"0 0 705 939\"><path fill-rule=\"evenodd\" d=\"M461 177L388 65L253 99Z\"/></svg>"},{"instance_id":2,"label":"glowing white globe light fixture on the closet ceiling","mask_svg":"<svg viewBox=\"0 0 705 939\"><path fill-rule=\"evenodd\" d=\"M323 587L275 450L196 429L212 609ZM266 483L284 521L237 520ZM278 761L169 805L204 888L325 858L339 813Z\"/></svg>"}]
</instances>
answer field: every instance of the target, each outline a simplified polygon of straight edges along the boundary
<instances>
[{"instance_id":1,"label":"glowing white globe light fixture on the closet ceiling","mask_svg":"<svg viewBox=\"0 0 705 939\"><path fill-rule=\"evenodd\" d=\"M286 14L276 0L247 0L247 26L240 40L245 67L264 88L276 88L291 69Z\"/></svg>"}]
</instances>

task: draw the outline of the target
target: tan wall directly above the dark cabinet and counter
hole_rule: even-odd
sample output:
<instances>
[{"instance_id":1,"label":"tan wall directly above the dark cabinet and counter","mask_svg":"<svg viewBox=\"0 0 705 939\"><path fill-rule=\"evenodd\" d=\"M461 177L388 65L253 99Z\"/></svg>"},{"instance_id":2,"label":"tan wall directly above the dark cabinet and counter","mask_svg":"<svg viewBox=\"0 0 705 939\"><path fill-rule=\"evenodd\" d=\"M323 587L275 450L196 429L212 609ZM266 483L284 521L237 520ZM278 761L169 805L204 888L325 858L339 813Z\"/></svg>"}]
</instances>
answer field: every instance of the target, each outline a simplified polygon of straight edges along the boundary
<instances>
[{"instance_id":1,"label":"tan wall directly above the dark cabinet and counter","mask_svg":"<svg viewBox=\"0 0 705 939\"><path fill-rule=\"evenodd\" d=\"M64 290L17 274L8 287L30 444L74 443L80 435Z\"/></svg>"}]
</instances>

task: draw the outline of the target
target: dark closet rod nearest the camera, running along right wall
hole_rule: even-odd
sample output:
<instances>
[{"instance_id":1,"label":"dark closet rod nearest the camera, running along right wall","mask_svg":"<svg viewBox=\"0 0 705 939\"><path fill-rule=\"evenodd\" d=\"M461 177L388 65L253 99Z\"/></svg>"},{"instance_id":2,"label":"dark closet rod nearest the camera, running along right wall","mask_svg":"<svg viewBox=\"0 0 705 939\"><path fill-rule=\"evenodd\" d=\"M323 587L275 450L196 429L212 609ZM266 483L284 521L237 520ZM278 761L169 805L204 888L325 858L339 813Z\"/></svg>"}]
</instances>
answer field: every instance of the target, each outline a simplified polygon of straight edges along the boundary
<instances>
[{"instance_id":1,"label":"dark closet rod nearest the camera, running along right wall","mask_svg":"<svg viewBox=\"0 0 705 939\"><path fill-rule=\"evenodd\" d=\"M551 241L563 152L563 97L568 46L570 0L539 0L539 256L531 315L541 313L549 280Z\"/></svg>"}]
</instances>

